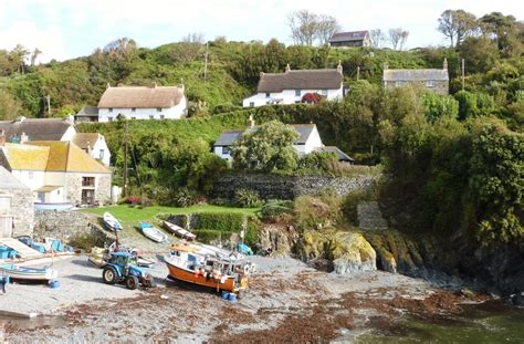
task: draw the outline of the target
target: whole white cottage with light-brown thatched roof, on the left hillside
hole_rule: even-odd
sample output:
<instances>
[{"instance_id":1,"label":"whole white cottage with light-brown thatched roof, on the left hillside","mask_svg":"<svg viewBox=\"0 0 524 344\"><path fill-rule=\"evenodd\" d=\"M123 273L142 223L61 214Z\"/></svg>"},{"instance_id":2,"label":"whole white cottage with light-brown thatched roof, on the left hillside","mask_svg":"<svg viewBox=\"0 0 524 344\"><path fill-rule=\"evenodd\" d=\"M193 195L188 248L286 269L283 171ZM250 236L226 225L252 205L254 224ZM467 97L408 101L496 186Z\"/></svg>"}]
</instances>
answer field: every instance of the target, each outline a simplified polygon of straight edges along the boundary
<instances>
[{"instance_id":1,"label":"whole white cottage with light-brown thatched roof, on the left hillside","mask_svg":"<svg viewBox=\"0 0 524 344\"><path fill-rule=\"evenodd\" d=\"M180 119L187 115L184 85L137 87L107 86L98 102L98 122L127 119Z\"/></svg>"}]
</instances>

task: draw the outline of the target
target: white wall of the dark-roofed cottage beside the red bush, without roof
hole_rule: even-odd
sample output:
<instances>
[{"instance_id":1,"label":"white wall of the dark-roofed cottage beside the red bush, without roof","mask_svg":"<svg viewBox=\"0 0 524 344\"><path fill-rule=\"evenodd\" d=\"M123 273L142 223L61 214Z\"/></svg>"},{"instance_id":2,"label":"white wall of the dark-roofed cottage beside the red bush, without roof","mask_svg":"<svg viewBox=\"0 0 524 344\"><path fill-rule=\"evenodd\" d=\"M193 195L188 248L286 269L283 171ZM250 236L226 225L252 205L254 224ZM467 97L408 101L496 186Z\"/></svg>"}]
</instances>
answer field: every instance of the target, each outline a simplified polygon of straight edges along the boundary
<instances>
[{"instance_id":1,"label":"white wall of the dark-roofed cottage beside the red bush, without roof","mask_svg":"<svg viewBox=\"0 0 524 344\"><path fill-rule=\"evenodd\" d=\"M298 93L300 92L300 93ZM242 106L264 106L270 104L297 104L302 102L302 97L306 93L318 93L328 101L338 101L344 96L344 86L336 90L284 90L282 92L258 93L244 98ZM269 95L269 96L268 96Z\"/></svg>"}]
</instances>

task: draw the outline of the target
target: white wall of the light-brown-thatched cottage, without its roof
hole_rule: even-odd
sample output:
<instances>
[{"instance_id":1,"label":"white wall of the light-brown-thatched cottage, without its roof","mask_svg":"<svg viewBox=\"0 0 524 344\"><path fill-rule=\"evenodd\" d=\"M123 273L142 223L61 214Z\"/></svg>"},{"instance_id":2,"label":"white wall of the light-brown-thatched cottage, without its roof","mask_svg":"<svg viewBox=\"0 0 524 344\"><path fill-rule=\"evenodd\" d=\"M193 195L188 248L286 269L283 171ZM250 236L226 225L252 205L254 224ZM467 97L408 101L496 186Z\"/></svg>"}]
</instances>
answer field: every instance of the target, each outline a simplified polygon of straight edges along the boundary
<instances>
[{"instance_id":1,"label":"white wall of the light-brown-thatched cottage, without its roof","mask_svg":"<svg viewBox=\"0 0 524 344\"><path fill-rule=\"evenodd\" d=\"M161 111L159 111L161 110ZM127 119L180 119L187 115L186 96L172 107L98 108L98 122L113 122L123 114Z\"/></svg>"}]
</instances>

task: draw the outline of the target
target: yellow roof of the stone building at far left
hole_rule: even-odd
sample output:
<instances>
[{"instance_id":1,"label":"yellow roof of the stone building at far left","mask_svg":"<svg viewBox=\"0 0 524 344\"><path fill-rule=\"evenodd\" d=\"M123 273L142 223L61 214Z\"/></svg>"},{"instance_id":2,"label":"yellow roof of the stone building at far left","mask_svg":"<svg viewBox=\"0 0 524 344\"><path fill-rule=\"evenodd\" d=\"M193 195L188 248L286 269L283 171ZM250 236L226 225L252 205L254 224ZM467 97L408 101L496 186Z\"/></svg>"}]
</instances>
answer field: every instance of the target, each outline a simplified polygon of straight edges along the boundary
<instances>
[{"instance_id":1,"label":"yellow roof of the stone building at far left","mask_svg":"<svg viewBox=\"0 0 524 344\"><path fill-rule=\"evenodd\" d=\"M70 142L6 144L2 152L11 169L111 174L101 163Z\"/></svg>"}]
</instances>

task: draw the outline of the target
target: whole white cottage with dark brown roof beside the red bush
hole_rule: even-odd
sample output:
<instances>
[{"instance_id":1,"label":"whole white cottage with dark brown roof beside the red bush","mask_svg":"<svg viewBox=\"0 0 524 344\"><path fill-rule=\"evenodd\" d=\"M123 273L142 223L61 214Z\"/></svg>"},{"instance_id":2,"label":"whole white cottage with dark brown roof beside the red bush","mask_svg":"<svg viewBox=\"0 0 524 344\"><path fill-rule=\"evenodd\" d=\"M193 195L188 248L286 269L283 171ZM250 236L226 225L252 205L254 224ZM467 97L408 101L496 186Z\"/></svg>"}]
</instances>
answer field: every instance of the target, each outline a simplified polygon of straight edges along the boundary
<instances>
[{"instance_id":1,"label":"whole white cottage with dark brown roof beside the red bush","mask_svg":"<svg viewBox=\"0 0 524 344\"><path fill-rule=\"evenodd\" d=\"M344 96L342 65L336 70L291 70L261 73L256 94L244 98L243 106L303 103L304 95L319 94L328 101Z\"/></svg>"}]
</instances>

